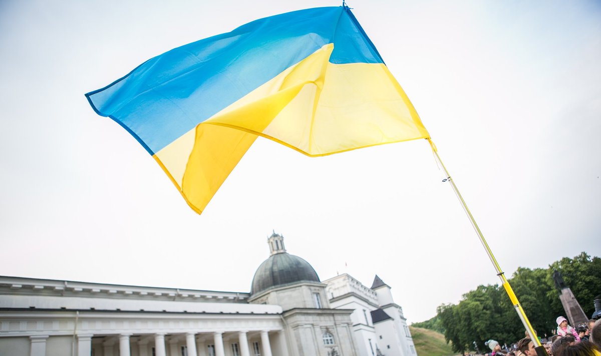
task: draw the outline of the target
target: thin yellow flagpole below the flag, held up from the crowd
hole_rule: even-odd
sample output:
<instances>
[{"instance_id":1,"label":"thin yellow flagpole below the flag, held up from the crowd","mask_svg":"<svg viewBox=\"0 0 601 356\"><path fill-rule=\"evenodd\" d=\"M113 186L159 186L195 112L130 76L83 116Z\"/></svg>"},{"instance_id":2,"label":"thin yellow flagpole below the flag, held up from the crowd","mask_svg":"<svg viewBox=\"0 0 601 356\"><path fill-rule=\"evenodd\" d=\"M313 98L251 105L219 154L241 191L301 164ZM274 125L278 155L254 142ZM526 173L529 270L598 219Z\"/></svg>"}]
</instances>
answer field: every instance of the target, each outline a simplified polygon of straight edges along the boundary
<instances>
[{"instance_id":1,"label":"thin yellow flagpole below the flag, held up from the crowd","mask_svg":"<svg viewBox=\"0 0 601 356\"><path fill-rule=\"evenodd\" d=\"M482 232L480 231L478 224L476 224L474 216L472 216L472 213L469 211L468 205L465 203L465 200L463 200L463 197L461 196L459 189L457 189L455 182L453 182L453 179L451 179L451 174L448 173L447 167L445 167L445 165L442 163L442 160L441 160L440 156L438 155L438 150L436 149L435 144L432 142L432 140L430 138L427 138L426 140L428 140L428 142L430 143L430 146L432 147L432 152L434 152L434 155L435 155L437 161L441 164L442 169L445 171L446 178L443 180L443 182L451 183L451 187L453 188L455 195L457 195L457 198L459 199L466 215L468 215L469 222L472 223L472 227L474 227L474 230L475 230L476 234L478 235L478 238L480 238L480 242L482 243L484 250L486 250L486 253L489 256L490 262L492 262L493 266L495 266L496 275L498 275L499 278L501 278L501 284L505 288L505 292L507 292L509 299L511 299L511 304L513 304L513 307L516 309L517 315L519 315L523 326L526 328L526 331L528 331L528 336L530 337L530 339L532 340L532 342L534 343L534 345L536 347L541 346L540 342L538 341L538 337L536 337L536 333L534 333L534 329L532 328L532 325L530 324L530 321L528 320L528 317L526 316L526 313L522 308L522 305L520 305L520 302L517 300L516 293L513 292L513 289L511 288L509 281L507 280L507 278L505 278L505 273L503 271L501 271L501 266L499 266L499 263L496 262L495 256L492 254L492 251L490 251L490 247L487 244L486 239L484 239L484 235L482 235Z\"/></svg>"}]
</instances>

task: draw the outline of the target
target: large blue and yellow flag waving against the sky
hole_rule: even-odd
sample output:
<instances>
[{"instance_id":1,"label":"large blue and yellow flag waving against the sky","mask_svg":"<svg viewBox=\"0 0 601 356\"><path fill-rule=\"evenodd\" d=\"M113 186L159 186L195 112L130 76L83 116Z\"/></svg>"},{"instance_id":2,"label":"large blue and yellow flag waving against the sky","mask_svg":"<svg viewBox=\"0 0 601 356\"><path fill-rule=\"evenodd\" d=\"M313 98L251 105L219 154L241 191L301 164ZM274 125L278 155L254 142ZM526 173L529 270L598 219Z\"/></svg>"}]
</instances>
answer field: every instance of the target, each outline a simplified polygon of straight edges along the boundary
<instances>
[{"instance_id":1,"label":"large blue and yellow flag waving against the sky","mask_svg":"<svg viewBox=\"0 0 601 356\"><path fill-rule=\"evenodd\" d=\"M86 94L201 213L258 136L308 156L429 138L350 9L255 20Z\"/></svg>"}]
</instances>

